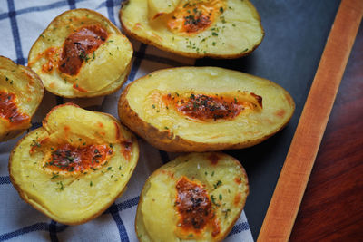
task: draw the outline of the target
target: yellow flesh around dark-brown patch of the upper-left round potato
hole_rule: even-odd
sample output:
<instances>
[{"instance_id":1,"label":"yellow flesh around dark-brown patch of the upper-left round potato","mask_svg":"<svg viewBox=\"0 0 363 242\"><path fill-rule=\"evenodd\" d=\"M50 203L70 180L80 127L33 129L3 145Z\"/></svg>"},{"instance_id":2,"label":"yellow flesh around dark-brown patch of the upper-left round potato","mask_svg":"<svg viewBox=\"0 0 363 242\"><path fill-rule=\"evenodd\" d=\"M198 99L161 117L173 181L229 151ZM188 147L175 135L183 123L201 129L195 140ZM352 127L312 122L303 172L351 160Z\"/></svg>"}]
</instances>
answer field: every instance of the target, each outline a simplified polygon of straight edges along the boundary
<instances>
[{"instance_id":1,"label":"yellow flesh around dark-brown patch of the upper-left round potato","mask_svg":"<svg viewBox=\"0 0 363 242\"><path fill-rule=\"evenodd\" d=\"M125 72L127 73L132 59L132 44L105 18L94 15L90 11L82 9L77 11L58 16L45 29L29 53L28 65L44 80L45 88L55 94L82 97L97 95L100 92L111 92L115 82L124 80ZM94 51L94 55L88 55L90 59L83 62L80 73L73 76L67 75L59 72L57 66L54 71L42 71L43 65L49 61L44 53L49 48L56 48L58 55L54 56L54 59L55 63L58 63L65 38L74 30L87 25L101 25L109 36L106 42ZM74 84L87 92L77 91L74 89Z\"/></svg>"}]
</instances>

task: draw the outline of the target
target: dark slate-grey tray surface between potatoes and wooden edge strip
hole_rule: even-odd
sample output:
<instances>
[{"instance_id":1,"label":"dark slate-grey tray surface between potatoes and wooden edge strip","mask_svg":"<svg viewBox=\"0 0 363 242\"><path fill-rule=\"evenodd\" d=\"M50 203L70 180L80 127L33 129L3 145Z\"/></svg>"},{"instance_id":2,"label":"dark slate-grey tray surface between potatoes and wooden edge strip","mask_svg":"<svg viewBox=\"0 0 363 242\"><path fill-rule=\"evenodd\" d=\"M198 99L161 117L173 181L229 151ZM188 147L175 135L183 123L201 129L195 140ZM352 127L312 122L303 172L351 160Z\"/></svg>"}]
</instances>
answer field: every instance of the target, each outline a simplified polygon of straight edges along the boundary
<instances>
[{"instance_id":1,"label":"dark slate-grey tray surface between potatoes and wooden edge strip","mask_svg":"<svg viewBox=\"0 0 363 242\"><path fill-rule=\"evenodd\" d=\"M284 130L252 148L227 151L241 161L249 176L245 212L252 236L257 239L340 1L251 2L265 30L257 50L235 60L200 59L196 65L220 66L277 82L296 103Z\"/></svg>"}]
</instances>

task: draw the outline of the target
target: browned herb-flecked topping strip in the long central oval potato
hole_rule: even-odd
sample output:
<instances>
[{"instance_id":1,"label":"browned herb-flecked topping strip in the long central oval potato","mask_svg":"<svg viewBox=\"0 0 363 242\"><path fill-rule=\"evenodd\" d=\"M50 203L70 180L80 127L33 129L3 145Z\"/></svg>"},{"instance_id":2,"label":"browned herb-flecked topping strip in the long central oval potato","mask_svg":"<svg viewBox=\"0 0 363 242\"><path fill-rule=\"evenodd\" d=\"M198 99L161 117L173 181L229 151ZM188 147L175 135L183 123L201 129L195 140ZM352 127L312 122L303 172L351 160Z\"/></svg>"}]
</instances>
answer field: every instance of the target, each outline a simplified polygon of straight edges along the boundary
<instances>
[{"instance_id":1,"label":"browned herb-flecked topping strip in the long central oval potato","mask_svg":"<svg viewBox=\"0 0 363 242\"><path fill-rule=\"evenodd\" d=\"M262 109L262 97L253 92L203 93L152 91L148 97L152 112L176 111L191 121L231 121Z\"/></svg>"}]
</instances>

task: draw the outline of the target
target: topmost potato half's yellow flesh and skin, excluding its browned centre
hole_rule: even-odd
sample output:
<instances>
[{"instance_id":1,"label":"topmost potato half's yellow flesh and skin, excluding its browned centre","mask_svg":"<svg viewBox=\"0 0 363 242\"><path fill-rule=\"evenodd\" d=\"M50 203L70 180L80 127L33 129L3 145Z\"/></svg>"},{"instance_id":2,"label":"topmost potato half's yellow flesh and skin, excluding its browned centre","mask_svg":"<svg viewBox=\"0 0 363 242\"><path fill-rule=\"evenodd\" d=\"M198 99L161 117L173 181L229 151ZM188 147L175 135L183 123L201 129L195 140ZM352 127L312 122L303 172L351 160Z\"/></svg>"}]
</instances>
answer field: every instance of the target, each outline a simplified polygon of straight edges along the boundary
<instances>
[{"instance_id":1,"label":"topmost potato half's yellow flesh and skin, excluding its browned centre","mask_svg":"<svg viewBox=\"0 0 363 242\"><path fill-rule=\"evenodd\" d=\"M194 5L200 0L179 1L183 5ZM209 1L204 1L209 2ZM250 1L226 0L210 1L217 4L214 12L217 16L197 33L175 34L168 28L168 19L173 14L161 15L156 20L149 19L148 1L128 0L120 10L120 22L123 31L142 43L152 44L157 48L191 58L211 57L217 59L239 58L253 52L264 37L260 15ZM194 3L194 4L193 4ZM149 3L150 5L150 3ZM203 8L203 7L201 7ZM139 15L133 15L137 11ZM187 14L193 12L189 9ZM240 13L244 13L241 15ZM192 16L190 18L190 16ZM193 15L184 15L186 21ZM169 21L170 22L170 21ZM186 24L184 24L186 25Z\"/></svg>"}]
</instances>

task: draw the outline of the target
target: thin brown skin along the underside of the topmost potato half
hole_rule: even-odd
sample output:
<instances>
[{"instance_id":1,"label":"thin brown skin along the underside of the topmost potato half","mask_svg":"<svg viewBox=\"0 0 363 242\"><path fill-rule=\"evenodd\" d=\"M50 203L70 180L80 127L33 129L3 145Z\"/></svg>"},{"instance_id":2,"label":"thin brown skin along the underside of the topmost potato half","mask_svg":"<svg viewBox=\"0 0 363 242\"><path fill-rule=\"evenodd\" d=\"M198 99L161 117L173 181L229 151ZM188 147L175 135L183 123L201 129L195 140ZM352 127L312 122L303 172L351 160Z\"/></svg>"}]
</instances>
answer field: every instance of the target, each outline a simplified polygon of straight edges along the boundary
<instances>
[{"instance_id":1,"label":"thin brown skin along the underside of the topmost potato half","mask_svg":"<svg viewBox=\"0 0 363 242\"><path fill-rule=\"evenodd\" d=\"M263 40L263 38L265 36L265 31L264 31L264 29L262 27L262 24L261 24L260 15L256 11L256 14L258 15L258 19L259 19L259 22L260 22L260 29L262 31L262 37L260 38L260 42L255 44L248 51L242 52L242 53L233 53L233 54L217 54L217 53L209 53L209 52L206 52L206 53L183 52L183 51L180 51L179 49L170 48L170 47L168 47L168 46L166 46L166 45L164 45L164 44L162 44L162 43L160 43L158 41L155 41L155 39L153 39L153 38L147 38L147 37L142 36L141 34L137 34L137 33L133 32L132 29L127 26L127 24L124 24L123 23L123 7L125 5L128 5L130 1L131 0L124 1L121 4L121 9L120 9L120 12L119 12L119 18L120 18L120 23L122 25L123 32L125 34L131 36L132 38L144 43L144 44L154 45L155 47L157 47L160 50L165 51L165 52L176 53L176 54L179 54L179 55L182 55L182 56L185 56L185 57L190 57L190 58L210 57L210 58L214 58L214 59L236 59L236 58L240 58L242 56L246 56L246 55L249 55L250 53L252 53L255 49L257 49L257 47L259 47L260 43L262 42L262 40ZM248 3L248 5L250 5L251 7L254 7L250 3L250 1L245 1L245 2Z\"/></svg>"}]
</instances>

